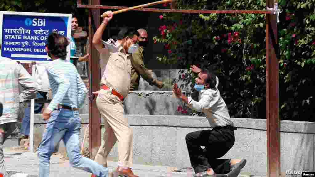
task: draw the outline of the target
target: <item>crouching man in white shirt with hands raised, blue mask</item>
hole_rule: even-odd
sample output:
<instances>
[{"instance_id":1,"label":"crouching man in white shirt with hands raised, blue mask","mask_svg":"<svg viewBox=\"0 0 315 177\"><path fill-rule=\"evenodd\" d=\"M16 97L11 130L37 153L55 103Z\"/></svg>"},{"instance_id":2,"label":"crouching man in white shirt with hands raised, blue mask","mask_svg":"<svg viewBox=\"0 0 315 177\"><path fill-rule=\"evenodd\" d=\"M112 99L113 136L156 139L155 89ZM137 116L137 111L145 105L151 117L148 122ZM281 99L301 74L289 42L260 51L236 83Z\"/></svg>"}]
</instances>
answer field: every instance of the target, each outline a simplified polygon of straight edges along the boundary
<instances>
[{"instance_id":1,"label":"crouching man in white shirt with hands raised, blue mask","mask_svg":"<svg viewBox=\"0 0 315 177\"><path fill-rule=\"evenodd\" d=\"M174 84L173 92L177 98L187 103L189 108L203 112L209 120L210 130L200 130L186 135L189 158L196 174L193 176L237 177L246 164L246 159L219 159L234 145L233 122L226 103L218 90L219 79L208 69L191 66L198 74L194 89L199 91L198 99L186 97ZM205 148L202 149L201 146Z\"/></svg>"}]
</instances>

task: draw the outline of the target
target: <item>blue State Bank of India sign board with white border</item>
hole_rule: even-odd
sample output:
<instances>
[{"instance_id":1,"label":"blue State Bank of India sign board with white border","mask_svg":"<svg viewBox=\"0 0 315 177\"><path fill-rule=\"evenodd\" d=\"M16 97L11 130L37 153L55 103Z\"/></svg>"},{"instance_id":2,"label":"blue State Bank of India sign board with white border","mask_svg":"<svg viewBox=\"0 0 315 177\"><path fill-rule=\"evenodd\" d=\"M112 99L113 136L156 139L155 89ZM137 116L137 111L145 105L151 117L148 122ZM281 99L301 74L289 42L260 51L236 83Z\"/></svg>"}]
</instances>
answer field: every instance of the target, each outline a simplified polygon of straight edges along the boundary
<instances>
[{"instance_id":1,"label":"blue State Bank of India sign board with white border","mask_svg":"<svg viewBox=\"0 0 315 177\"><path fill-rule=\"evenodd\" d=\"M70 39L71 17L71 14L0 12L0 56L21 63L50 61L45 50L47 38L57 32Z\"/></svg>"}]
</instances>

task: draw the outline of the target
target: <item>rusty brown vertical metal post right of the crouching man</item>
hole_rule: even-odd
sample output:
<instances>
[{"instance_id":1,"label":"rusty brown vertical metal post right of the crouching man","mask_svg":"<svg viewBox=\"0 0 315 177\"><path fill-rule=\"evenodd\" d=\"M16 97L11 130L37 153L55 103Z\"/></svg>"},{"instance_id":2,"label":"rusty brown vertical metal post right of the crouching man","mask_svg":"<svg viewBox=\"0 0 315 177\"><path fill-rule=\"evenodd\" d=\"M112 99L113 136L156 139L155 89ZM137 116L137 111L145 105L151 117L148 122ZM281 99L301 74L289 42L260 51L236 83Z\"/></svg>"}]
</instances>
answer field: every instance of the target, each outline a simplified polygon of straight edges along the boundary
<instances>
[{"instance_id":1,"label":"rusty brown vertical metal post right of the crouching man","mask_svg":"<svg viewBox=\"0 0 315 177\"><path fill-rule=\"evenodd\" d=\"M266 0L274 8L277 0ZM275 50L277 49L277 50ZM267 177L280 176L278 28L276 14L266 14Z\"/></svg>"}]
</instances>

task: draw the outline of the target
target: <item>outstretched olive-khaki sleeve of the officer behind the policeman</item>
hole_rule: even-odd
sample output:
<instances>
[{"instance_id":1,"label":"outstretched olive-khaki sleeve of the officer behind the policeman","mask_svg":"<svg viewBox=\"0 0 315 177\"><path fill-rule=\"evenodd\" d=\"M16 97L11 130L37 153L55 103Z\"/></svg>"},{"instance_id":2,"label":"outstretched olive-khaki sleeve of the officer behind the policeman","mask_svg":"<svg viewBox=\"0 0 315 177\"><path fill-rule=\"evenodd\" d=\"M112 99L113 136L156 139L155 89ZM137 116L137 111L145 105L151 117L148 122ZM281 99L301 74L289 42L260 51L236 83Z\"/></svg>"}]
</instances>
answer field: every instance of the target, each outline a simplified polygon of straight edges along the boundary
<instances>
[{"instance_id":1,"label":"outstretched olive-khaki sleeve of the officer behind the policeman","mask_svg":"<svg viewBox=\"0 0 315 177\"><path fill-rule=\"evenodd\" d=\"M153 76L152 72L149 71L146 66L143 63L143 54L140 51L140 48L136 50L132 54L132 60L131 60L132 66L135 68L135 70L142 76L144 80L146 80L149 83L153 82Z\"/></svg>"}]
</instances>

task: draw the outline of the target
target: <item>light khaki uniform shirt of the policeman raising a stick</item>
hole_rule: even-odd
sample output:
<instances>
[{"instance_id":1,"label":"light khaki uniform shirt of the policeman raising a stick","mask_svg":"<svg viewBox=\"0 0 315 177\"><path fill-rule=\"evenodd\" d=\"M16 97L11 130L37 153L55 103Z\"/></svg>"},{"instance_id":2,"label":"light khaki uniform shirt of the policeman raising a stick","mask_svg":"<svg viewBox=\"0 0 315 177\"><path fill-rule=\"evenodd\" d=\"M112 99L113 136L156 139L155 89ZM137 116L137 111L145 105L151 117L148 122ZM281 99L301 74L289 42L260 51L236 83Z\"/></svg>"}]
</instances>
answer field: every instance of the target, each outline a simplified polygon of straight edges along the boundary
<instances>
[{"instance_id":1,"label":"light khaki uniform shirt of the policeman raising a stick","mask_svg":"<svg viewBox=\"0 0 315 177\"><path fill-rule=\"evenodd\" d=\"M131 55L126 54L123 46L113 39L102 41L100 49L101 84L115 89L123 98L128 96L130 89Z\"/></svg>"}]
</instances>

